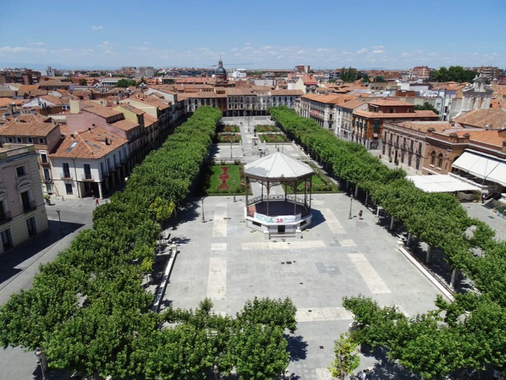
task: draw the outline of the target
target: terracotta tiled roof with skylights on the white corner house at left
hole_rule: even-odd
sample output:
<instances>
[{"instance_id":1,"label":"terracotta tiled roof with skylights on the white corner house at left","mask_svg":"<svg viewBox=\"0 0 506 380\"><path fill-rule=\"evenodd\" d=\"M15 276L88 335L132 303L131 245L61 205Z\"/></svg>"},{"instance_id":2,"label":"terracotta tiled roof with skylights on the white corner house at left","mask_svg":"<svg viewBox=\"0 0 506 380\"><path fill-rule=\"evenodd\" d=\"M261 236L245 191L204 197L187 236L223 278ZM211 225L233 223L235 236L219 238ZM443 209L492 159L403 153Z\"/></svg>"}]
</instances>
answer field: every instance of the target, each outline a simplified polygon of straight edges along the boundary
<instances>
[{"instance_id":1,"label":"terracotta tiled roof with skylights on the white corner house at left","mask_svg":"<svg viewBox=\"0 0 506 380\"><path fill-rule=\"evenodd\" d=\"M62 140L58 149L50 157L67 157L80 159L99 159L117 147L128 143L128 140L106 131L100 127L91 131L75 134L71 132ZM106 143L107 139L107 143Z\"/></svg>"}]
</instances>

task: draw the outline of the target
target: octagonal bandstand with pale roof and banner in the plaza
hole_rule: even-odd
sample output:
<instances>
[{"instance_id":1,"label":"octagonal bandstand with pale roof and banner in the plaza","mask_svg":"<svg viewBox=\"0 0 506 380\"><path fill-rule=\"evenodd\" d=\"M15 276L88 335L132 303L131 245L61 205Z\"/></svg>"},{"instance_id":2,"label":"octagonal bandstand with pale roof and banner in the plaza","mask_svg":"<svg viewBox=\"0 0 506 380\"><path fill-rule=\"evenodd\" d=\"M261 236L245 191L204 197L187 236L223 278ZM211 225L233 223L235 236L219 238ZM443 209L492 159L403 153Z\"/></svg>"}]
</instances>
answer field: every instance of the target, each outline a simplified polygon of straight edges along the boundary
<instances>
[{"instance_id":1,"label":"octagonal bandstand with pale roof and banner in the plaza","mask_svg":"<svg viewBox=\"0 0 506 380\"><path fill-rule=\"evenodd\" d=\"M296 233L311 225L311 178L313 169L280 151L244 166L246 188L249 182L261 185L261 194L246 194L246 225L269 234ZM297 187L304 182L304 191ZM277 185L285 185L284 194L271 194ZM293 194L286 194L286 189Z\"/></svg>"}]
</instances>

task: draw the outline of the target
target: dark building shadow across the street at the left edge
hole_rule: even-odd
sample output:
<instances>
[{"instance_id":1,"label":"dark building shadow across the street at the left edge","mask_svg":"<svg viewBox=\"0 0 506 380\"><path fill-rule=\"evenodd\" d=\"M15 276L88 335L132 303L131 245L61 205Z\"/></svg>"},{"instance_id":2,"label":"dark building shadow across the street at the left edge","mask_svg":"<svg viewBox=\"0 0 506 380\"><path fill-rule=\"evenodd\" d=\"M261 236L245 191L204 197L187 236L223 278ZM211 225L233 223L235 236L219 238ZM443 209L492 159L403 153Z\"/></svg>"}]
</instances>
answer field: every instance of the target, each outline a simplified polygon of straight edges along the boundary
<instances>
[{"instance_id":1,"label":"dark building shadow across the street at the left edge","mask_svg":"<svg viewBox=\"0 0 506 380\"><path fill-rule=\"evenodd\" d=\"M62 222L49 220L49 229L41 232L39 235L28 239L15 246L4 254L0 255L0 283L10 279L23 270L16 267L23 261L36 255L40 251L50 248L53 244L64 238L66 235L78 230L84 224ZM61 227L61 233L60 233Z\"/></svg>"}]
</instances>

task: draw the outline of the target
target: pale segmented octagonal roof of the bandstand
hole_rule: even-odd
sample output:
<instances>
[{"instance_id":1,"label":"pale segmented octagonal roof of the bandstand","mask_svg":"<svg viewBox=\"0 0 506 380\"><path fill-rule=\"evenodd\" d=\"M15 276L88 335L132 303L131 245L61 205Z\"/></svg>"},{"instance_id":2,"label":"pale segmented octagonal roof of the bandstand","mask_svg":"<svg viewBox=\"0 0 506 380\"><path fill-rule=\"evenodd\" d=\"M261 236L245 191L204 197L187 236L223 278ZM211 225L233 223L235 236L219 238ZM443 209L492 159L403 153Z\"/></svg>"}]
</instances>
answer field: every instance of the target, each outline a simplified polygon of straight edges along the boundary
<instances>
[{"instance_id":1,"label":"pale segmented octagonal roof of the bandstand","mask_svg":"<svg viewBox=\"0 0 506 380\"><path fill-rule=\"evenodd\" d=\"M314 173L313 169L297 159L277 151L272 155L244 165L246 177L265 180L293 180Z\"/></svg>"}]
</instances>

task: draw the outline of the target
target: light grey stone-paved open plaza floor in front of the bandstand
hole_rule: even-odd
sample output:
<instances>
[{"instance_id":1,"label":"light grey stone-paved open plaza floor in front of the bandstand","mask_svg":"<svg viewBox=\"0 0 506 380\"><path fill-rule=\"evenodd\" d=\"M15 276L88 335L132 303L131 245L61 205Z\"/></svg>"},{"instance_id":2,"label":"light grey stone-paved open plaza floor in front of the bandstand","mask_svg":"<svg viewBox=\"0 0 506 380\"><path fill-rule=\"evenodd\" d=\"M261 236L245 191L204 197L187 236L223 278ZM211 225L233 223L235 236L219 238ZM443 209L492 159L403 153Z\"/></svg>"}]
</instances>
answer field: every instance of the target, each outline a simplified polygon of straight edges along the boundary
<instances>
[{"instance_id":1,"label":"light grey stone-paved open plaza floor in front of the bandstand","mask_svg":"<svg viewBox=\"0 0 506 380\"><path fill-rule=\"evenodd\" d=\"M313 195L314 224L302 239L264 240L261 232L246 229L244 197L236 199L206 197L205 222L195 199L180 213L182 222L167 231L179 254L164 307L195 308L207 296L216 313L234 315L255 296L290 297L298 309L298 330L289 339L294 359L289 371L305 380L330 378L325 368L334 358L333 340L352 322L343 296L370 296L408 316L434 308L439 291L396 249L397 237L369 211L359 220L363 207L356 201L348 219L346 195ZM374 364L373 357L362 358L362 368Z\"/></svg>"}]
</instances>

